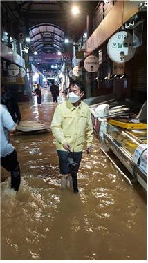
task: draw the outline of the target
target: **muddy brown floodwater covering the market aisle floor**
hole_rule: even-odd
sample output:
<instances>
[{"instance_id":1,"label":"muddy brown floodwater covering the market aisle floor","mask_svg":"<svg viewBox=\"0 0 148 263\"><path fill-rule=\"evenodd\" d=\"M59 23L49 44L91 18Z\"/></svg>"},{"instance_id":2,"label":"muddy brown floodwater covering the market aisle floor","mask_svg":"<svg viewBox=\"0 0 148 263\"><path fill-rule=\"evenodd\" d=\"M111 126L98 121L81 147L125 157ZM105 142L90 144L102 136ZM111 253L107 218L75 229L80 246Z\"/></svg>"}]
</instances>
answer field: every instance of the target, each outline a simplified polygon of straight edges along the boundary
<instances>
[{"instance_id":1,"label":"muddy brown floodwater covering the market aisle floor","mask_svg":"<svg viewBox=\"0 0 148 263\"><path fill-rule=\"evenodd\" d=\"M50 125L56 104L20 104L22 121ZM47 96L48 95L48 96ZM146 260L146 195L131 187L100 150L94 135L83 154L80 193L61 189L51 133L11 136L21 187L10 190L1 170L1 260Z\"/></svg>"}]
</instances>

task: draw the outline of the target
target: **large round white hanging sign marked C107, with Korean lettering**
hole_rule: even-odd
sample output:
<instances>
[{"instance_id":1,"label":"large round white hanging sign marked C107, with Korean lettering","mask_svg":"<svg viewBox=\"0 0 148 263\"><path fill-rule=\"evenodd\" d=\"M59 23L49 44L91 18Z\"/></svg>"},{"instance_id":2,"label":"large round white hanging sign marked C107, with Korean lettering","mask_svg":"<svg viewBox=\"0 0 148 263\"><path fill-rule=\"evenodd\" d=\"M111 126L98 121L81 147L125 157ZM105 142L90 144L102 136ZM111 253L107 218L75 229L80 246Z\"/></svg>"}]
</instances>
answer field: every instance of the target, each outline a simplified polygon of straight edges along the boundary
<instances>
[{"instance_id":1,"label":"large round white hanging sign marked C107, with Korean lettering","mask_svg":"<svg viewBox=\"0 0 148 263\"><path fill-rule=\"evenodd\" d=\"M133 36L126 31L120 31L113 35L107 44L107 53L110 59L116 63L129 61L136 52L136 43Z\"/></svg>"}]
</instances>

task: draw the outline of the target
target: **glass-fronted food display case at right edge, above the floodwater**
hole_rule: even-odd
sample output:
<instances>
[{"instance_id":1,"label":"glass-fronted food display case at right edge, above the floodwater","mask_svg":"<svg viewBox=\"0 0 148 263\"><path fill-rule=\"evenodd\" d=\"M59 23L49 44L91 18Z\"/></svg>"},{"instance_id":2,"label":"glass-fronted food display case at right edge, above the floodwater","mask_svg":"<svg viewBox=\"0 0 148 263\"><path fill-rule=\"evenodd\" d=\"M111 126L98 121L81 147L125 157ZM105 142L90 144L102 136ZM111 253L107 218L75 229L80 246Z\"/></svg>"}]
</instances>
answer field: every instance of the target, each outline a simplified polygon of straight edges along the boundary
<instances>
[{"instance_id":1,"label":"glass-fronted food display case at right edge, above the floodwater","mask_svg":"<svg viewBox=\"0 0 148 263\"><path fill-rule=\"evenodd\" d=\"M120 159L135 179L147 189L147 130L125 130L111 124L107 125L104 142ZM138 159L136 159L136 150Z\"/></svg>"}]
</instances>

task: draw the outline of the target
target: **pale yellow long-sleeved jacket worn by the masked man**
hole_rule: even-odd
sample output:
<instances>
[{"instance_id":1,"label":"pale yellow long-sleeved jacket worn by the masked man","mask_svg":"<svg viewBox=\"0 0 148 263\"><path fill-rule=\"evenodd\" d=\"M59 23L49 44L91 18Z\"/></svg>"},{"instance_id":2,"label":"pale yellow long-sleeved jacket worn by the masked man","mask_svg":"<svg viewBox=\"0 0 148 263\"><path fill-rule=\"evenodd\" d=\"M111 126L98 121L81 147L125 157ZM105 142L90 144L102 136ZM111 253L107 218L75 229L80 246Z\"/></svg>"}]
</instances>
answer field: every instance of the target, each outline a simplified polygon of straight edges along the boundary
<instances>
[{"instance_id":1,"label":"pale yellow long-sleeved jacket worn by the masked man","mask_svg":"<svg viewBox=\"0 0 148 263\"><path fill-rule=\"evenodd\" d=\"M65 150L62 144L68 143L71 151L80 152L83 150L85 137L87 147L90 147L93 140L93 126L89 106L83 101L77 107L70 101L59 104L53 115L51 130L56 139L57 150Z\"/></svg>"}]
</instances>

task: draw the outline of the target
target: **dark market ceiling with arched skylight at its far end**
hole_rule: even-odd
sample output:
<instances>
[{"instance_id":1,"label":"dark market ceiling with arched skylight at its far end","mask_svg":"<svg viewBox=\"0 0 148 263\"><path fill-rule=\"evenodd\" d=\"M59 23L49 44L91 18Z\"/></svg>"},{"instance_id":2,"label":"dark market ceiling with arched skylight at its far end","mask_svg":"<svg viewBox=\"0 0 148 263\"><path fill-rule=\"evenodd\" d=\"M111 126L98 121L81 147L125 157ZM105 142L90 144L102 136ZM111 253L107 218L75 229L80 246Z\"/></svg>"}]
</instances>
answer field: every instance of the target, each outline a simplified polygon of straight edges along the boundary
<instances>
[{"instance_id":1,"label":"dark market ceiling with arched skylight at its far end","mask_svg":"<svg viewBox=\"0 0 148 263\"><path fill-rule=\"evenodd\" d=\"M38 52L62 50L64 37L76 41L86 28L86 14L93 14L99 1L1 1L12 12L24 35L29 34ZM77 4L80 14L73 17Z\"/></svg>"}]
</instances>

